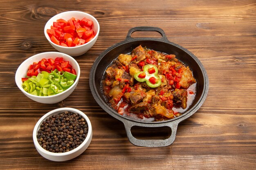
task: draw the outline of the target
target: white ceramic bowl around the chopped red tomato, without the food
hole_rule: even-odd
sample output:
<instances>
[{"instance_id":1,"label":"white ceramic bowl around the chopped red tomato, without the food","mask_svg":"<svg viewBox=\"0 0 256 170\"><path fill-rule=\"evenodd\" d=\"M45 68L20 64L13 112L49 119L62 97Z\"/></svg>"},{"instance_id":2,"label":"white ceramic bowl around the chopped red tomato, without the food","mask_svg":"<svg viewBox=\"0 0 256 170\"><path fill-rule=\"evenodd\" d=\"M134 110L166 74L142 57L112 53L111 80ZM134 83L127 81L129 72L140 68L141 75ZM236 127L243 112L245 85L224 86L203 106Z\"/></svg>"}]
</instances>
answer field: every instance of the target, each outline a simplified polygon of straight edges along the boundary
<instances>
[{"instance_id":1,"label":"white ceramic bowl around the chopped red tomato, without the food","mask_svg":"<svg viewBox=\"0 0 256 170\"><path fill-rule=\"evenodd\" d=\"M69 20L72 17L79 19L79 20L81 20L83 18L88 18L88 19L92 20L93 21L92 29L96 33L95 37L92 40L90 40L90 42L87 42L86 44L83 44L80 46L65 47L65 46L60 46L60 45L54 44L51 41L49 35L47 34L47 29L50 29L53 22L56 22L56 20L58 20L58 19ZM92 46L96 42L96 40L99 36L99 22L96 20L96 18L94 18L92 15L90 15L88 13L81 12L81 11L67 11L67 12L59 13L59 14L53 16L51 19L49 19L48 22L45 24L44 31L45 31L45 37L47 38L49 43L56 50L60 51L61 53L66 53L71 56L79 56L79 55L86 53L90 48L92 48Z\"/></svg>"}]
</instances>

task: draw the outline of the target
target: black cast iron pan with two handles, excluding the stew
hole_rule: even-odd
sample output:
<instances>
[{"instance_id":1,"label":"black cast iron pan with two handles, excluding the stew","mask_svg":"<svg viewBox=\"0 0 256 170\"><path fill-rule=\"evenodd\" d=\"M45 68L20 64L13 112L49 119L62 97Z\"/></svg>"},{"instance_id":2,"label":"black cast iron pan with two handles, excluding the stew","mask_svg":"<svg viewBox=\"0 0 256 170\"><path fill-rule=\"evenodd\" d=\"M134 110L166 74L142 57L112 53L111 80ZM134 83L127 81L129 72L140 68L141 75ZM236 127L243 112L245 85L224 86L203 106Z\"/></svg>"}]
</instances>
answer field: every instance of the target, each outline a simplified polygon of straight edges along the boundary
<instances>
[{"instance_id":1,"label":"black cast iron pan with two handles, excluding the stew","mask_svg":"<svg viewBox=\"0 0 256 170\"><path fill-rule=\"evenodd\" d=\"M156 31L162 35L162 38L132 38L131 34L135 31ZM106 71L106 68L111 64L111 62L114 59L118 57L119 54L130 53L132 49L135 49L135 47L139 45L143 47L146 46L147 48L153 49L155 51L160 51L167 54L175 54L176 57L184 64L189 66L189 68L193 72L193 76L197 81L195 100L193 104L188 108L188 110L181 116L176 117L174 119L159 122L141 121L119 115L113 108L111 108L108 105L108 103L104 99L101 89L101 81ZM90 72L90 89L96 102L108 114L124 123L127 137L132 144L144 147L163 147L171 145L175 139L178 124L184 119L187 119L188 117L193 115L193 113L195 113L200 108L200 106L202 106L208 93L208 85L209 82L207 73L202 63L198 60L197 57L195 57L195 55L193 55L190 51L183 48L182 46L170 42L162 29L148 26L134 27L130 29L124 41L111 46L110 48L106 49L103 53L101 53L101 55L99 55L99 57L95 60L94 64L92 65ZM171 128L171 136L168 139L164 140L137 139L132 136L132 133L130 131L132 126L168 126Z\"/></svg>"}]
</instances>

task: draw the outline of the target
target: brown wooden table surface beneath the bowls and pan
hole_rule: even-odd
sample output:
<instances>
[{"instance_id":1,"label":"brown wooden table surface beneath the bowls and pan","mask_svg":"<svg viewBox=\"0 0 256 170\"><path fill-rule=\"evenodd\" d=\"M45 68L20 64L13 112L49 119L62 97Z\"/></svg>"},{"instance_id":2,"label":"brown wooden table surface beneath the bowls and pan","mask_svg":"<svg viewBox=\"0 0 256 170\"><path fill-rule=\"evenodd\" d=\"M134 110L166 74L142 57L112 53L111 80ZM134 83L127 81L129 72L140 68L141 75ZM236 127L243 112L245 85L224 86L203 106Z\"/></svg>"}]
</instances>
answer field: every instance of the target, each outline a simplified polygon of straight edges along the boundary
<instances>
[{"instance_id":1,"label":"brown wooden table surface beneath the bowls and pan","mask_svg":"<svg viewBox=\"0 0 256 170\"><path fill-rule=\"evenodd\" d=\"M74 57L81 77L69 97L57 104L34 102L16 86L16 69L32 55L56 51L44 25L73 10L97 18L99 38ZM94 60L135 26L162 28L168 40L198 57L209 76L207 99L179 124L171 146L132 145L124 124L101 109L90 91ZM256 169L255 0L0 0L0 43L0 169ZM40 117L60 107L88 115L93 137L79 157L54 162L36 151L32 131Z\"/></svg>"}]
</instances>

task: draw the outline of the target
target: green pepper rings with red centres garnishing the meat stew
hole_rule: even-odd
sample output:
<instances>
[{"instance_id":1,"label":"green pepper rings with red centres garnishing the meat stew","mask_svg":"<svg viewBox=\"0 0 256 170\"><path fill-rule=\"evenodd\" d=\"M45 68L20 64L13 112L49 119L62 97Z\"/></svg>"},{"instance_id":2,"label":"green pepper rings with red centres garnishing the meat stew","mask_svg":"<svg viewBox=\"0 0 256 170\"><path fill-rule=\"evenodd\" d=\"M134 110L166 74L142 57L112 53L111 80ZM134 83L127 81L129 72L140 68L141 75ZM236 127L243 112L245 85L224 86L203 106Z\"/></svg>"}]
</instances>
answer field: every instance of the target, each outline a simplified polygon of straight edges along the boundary
<instances>
[{"instance_id":1,"label":"green pepper rings with red centres garnishing the meat stew","mask_svg":"<svg viewBox=\"0 0 256 170\"><path fill-rule=\"evenodd\" d=\"M153 71L152 71L153 70ZM151 72L151 74L150 74ZM138 82L146 82L146 84L151 87L151 88L155 88L161 85L161 79L160 77L157 76L158 73L158 68L157 66L153 65L153 64L147 64L146 66L144 66L143 71L139 71L137 73L135 73L134 78L138 81ZM146 74L146 76L145 76ZM153 81L150 82L150 78L154 77L155 81L153 83Z\"/></svg>"}]
</instances>

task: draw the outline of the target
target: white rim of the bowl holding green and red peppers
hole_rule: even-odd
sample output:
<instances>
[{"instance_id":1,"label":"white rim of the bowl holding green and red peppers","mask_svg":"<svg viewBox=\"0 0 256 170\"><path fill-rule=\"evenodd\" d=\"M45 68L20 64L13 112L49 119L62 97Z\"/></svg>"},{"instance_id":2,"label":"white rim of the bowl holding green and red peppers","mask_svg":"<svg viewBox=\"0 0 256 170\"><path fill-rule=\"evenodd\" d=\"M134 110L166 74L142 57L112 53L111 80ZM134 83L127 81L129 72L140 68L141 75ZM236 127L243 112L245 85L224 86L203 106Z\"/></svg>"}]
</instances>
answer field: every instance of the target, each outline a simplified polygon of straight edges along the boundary
<instances>
[{"instance_id":1,"label":"white rim of the bowl holding green and red peppers","mask_svg":"<svg viewBox=\"0 0 256 170\"><path fill-rule=\"evenodd\" d=\"M48 53L52 53L53 55L54 54L61 54L61 55L65 55L67 56L68 58L70 58L69 60L73 60L73 62L76 63L77 67L78 67L78 71L76 73L76 80L74 81L74 83L72 84L72 86L70 86L69 88L67 88L67 90L61 92L61 93L58 93L58 94L55 94L55 95L51 95L51 96L37 96L37 95L31 95L30 93L26 92L24 90L24 88L22 88L22 84L19 83L19 79L21 79L22 77L18 77L18 71L21 69L22 65L25 64L28 60L30 60L32 57L36 57L37 55L43 55L43 54L48 54ZM36 62L36 61L35 61ZM65 53L61 53L61 52L43 52L43 53L38 53L38 54L35 54L35 55L32 55L31 57L27 58L24 62L22 62L20 64L20 66L18 67L17 71L16 71L16 74L15 74L15 82L16 82L16 85L18 86L18 88L23 92L23 93L26 93L27 95L31 96L31 97L39 97L39 98L52 98L52 97L57 97L59 95L62 95L63 93L67 92L67 91L70 91L72 89L72 87L75 86L75 84L79 81L79 77L80 77L80 66L78 64L78 62L76 62L76 60L71 57L70 55L67 55ZM21 81L21 80L20 80Z\"/></svg>"}]
</instances>

